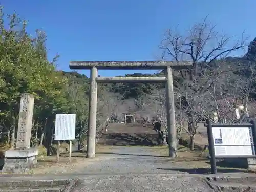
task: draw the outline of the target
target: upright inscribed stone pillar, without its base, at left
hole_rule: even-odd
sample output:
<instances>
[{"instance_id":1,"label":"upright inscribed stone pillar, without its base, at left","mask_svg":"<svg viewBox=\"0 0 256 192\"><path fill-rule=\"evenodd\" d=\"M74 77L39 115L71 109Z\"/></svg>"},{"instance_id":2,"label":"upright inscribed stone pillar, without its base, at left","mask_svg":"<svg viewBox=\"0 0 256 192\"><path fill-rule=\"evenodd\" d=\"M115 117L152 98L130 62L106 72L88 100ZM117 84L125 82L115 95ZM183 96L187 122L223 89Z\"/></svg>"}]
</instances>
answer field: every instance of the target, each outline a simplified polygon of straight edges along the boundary
<instances>
[{"instance_id":1,"label":"upright inscribed stone pillar, without its base, at left","mask_svg":"<svg viewBox=\"0 0 256 192\"><path fill-rule=\"evenodd\" d=\"M26 93L20 99L16 148L30 148L34 96Z\"/></svg>"}]
</instances>

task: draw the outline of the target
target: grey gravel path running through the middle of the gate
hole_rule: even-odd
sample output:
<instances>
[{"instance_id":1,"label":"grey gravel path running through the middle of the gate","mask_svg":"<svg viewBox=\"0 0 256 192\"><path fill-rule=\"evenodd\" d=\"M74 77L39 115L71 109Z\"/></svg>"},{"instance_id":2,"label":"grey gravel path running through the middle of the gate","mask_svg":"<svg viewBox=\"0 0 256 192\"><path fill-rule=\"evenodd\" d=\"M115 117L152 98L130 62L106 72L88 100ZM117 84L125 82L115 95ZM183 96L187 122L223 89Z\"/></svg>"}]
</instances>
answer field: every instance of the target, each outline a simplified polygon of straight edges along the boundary
<instances>
[{"instance_id":1,"label":"grey gravel path running through the middle of the gate","mask_svg":"<svg viewBox=\"0 0 256 192\"><path fill-rule=\"evenodd\" d=\"M147 150L146 147L113 147L110 154L90 163L80 174L140 174L140 173L170 173L169 160L161 157L157 152ZM176 167L178 168L178 167ZM175 172L176 173L176 172ZM179 173L179 172L177 172Z\"/></svg>"}]
</instances>

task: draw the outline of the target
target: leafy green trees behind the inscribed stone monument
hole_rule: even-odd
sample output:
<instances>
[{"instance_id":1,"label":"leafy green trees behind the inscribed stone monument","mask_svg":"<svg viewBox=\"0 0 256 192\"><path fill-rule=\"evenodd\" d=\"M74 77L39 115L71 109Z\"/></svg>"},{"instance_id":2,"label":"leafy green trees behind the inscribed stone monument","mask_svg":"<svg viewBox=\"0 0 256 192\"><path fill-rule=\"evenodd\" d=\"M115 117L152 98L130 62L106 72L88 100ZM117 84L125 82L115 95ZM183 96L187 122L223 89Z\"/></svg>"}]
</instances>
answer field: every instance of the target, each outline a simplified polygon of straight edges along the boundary
<instances>
[{"instance_id":1,"label":"leafy green trees behind the inscribed stone monument","mask_svg":"<svg viewBox=\"0 0 256 192\"><path fill-rule=\"evenodd\" d=\"M22 93L31 93L35 96L35 135L38 136L37 132L40 132L41 139L44 139L43 133L47 129L52 130L55 114L68 112L70 106L65 92L67 78L56 71L54 62L47 60L45 33L36 30L36 37L31 38L26 31L26 21L19 19L16 14L7 15L9 25L5 28L4 18L1 7L0 118L3 127L10 127L8 131L12 141L8 142L14 147Z\"/></svg>"}]
</instances>

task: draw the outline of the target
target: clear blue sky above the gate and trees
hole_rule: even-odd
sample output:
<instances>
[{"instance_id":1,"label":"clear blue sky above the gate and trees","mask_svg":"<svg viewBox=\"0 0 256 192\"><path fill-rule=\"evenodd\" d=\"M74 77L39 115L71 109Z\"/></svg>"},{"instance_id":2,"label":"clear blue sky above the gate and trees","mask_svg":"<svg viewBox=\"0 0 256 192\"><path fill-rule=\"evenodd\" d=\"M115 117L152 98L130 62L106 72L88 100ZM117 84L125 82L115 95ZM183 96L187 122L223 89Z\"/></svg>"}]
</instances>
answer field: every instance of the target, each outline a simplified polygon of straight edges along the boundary
<instances>
[{"instance_id":1,"label":"clear blue sky above the gate and trees","mask_svg":"<svg viewBox=\"0 0 256 192\"><path fill-rule=\"evenodd\" d=\"M208 15L218 30L256 37L256 1L242 0L2 0L5 13L28 20L28 31L47 33L49 58L61 54L58 68L70 60L156 60L158 45L169 27L180 31ZM133 71L101 70L101 76ZM144 71L145 72L145 71ZM154 71L146 71L153 73ZM88 70L79 71L89 76Z\"/></svg>"}]
</instances>

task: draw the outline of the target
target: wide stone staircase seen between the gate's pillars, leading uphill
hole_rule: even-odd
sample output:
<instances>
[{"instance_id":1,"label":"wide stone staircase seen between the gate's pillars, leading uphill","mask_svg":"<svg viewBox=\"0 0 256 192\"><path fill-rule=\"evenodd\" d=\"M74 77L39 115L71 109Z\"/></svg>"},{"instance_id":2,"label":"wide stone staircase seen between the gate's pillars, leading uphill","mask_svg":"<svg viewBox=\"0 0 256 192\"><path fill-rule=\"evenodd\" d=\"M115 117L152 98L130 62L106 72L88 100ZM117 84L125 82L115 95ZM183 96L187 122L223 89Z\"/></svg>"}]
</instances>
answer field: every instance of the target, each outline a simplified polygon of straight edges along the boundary
<instances>
[{"instance_id":1,"label":"wide stone staircase seen between the gate's pillars, leading uphill","mask_svg":"<svg viewBox=\"0 0 256 192\"><path fill-rule=\"evenodd\" d=\"M151 124L110 123L98 144L105 146L157 145L157 133Z\"/></svg>"}]
</instances>

